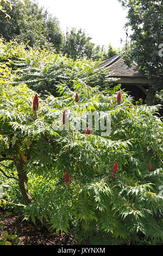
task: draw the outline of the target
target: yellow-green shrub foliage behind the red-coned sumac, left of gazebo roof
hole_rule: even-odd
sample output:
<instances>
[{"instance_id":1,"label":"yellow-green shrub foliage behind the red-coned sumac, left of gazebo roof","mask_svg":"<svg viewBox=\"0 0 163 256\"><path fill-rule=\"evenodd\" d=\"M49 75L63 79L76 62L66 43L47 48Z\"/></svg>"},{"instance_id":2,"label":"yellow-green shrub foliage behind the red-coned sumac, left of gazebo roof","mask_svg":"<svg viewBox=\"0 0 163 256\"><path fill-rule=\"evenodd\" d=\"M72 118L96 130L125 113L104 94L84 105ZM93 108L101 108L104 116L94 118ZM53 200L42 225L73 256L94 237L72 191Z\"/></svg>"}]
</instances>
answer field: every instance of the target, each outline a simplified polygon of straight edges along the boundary
<instances>
[{"instance_id":1,"label":"yellow-green shrub foliage behind the red-coned sumac, left of gazebo roof","mask_svg":"<svg viewBox=\"0 0 163 256\"><path fill-rule=\"evenodd\" d=\"M49 92L56 95L56 88L60 83L66 83L71 88L76 78L91 83L92 87L101 88L114 81L106 76L109 75L108 71L96 69L99 62L86 59L74 61L56 54L52 49L51 52L45 48L29 48L27 51L26 45L18 45L16 42L4 44L3 40L1 42L1 60L17 74L12 84L26 83L41 95L47 95Z\"/></svg>"}]
</instances>

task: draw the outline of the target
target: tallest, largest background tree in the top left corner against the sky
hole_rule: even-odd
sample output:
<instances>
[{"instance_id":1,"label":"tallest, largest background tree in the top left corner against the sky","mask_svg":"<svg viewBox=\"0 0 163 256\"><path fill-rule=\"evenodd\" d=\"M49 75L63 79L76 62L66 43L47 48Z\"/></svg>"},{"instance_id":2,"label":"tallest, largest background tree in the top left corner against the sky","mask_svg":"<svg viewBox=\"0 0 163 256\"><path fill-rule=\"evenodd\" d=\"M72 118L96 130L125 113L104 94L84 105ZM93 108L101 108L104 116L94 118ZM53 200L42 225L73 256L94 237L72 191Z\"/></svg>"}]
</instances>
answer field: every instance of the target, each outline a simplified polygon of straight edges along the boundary
<instances>
[{"instance_id":1,"label":"tallest, largest background tree in the top left corner against the sky","mask_svg":"<svg viewBox=\"0 0 163 256\"><path fill-rule=\"evenodd\" d=\"M62 32L57 17L52 17L36 1L11 1L12 10L6 8L11 19L0 13L0 34L7 41L16 39L29 46L52 45L57 51L62 44Z\"/></svg>"}]
</instances>

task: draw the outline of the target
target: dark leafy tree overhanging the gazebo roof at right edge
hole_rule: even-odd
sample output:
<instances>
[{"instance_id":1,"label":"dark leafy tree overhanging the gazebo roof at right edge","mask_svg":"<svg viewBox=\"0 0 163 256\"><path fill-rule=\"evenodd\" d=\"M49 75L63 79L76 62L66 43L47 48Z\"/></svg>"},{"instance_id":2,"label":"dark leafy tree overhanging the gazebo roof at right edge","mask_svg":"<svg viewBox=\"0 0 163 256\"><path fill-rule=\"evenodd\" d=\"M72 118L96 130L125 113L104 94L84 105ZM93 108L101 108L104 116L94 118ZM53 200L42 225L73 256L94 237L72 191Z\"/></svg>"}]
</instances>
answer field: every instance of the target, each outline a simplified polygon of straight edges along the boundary
<instances>
[{"instance_id":1,"label":"dark leafy tree overhanging the gazebo roof at right edge","mask_svg":"<svg viewBox=\"0 0 163 256\"><path fill-rule=\"evenodd\" d=\"M163 88L163 69L160 45L163 43L162 0L119 0L128 9L127 26L131 28L130 50L126 63L136 60L140 70L152 81L155 88Z\"/></svg>"}]
</instances>

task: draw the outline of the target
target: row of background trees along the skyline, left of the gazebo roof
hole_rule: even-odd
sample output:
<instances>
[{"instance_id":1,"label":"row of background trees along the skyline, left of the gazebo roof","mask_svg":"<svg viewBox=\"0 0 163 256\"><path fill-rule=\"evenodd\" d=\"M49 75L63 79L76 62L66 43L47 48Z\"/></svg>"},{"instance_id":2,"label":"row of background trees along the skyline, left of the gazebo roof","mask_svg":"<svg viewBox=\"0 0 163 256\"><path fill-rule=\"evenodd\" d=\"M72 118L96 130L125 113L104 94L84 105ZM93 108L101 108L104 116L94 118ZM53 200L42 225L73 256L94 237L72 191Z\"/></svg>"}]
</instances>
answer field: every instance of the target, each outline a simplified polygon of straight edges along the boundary
<instances>
[{"instance_id":1,"label":"row of background trees along the skyline, left of the gazebo roof","mask_svg":"<svg viewBox=\"0 0 163 256\"><path fill-rule=\"evenodd\" d=\"M22 1L12 0L12 5L7 3L2 4L11 19L5 19L4 13L0 13L0 35L7 41L15 39L30 47L48 47L74 60L80 57L105 60L120 52L120 49L116 50L111 45L96 46L82 29L69 28L64 34L57 17L39 7L37 1L26 0L22 4Z\"/></svg>"}]
</instances>

